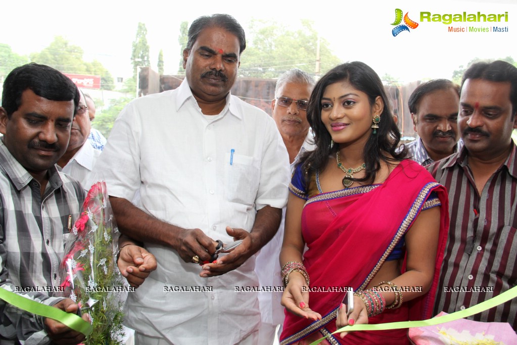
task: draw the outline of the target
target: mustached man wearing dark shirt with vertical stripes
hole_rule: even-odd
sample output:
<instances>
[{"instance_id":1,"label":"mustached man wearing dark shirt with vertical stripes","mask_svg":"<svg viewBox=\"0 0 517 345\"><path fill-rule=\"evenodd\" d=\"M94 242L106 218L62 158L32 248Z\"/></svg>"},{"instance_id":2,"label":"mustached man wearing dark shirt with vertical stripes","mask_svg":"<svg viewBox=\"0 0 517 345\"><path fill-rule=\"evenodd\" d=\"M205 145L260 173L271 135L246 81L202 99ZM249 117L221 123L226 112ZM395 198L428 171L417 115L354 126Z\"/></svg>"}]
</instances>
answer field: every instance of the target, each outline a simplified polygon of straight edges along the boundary
<instances>
[{"instance_id":1,"label":"mustached man wearing dark shirt with vertical stripes","mask_svg":"<svg viewBox=\"0 0 517 345\"><path fill-rule=\"evenodd\" d=\"M463 310L509 290L517 281L517 68L478 63L463 76L460 152L428 167L449 191L450 233L435 312ZM517 301L469 319L509 322Z\"/></svg>"}]
</instances>

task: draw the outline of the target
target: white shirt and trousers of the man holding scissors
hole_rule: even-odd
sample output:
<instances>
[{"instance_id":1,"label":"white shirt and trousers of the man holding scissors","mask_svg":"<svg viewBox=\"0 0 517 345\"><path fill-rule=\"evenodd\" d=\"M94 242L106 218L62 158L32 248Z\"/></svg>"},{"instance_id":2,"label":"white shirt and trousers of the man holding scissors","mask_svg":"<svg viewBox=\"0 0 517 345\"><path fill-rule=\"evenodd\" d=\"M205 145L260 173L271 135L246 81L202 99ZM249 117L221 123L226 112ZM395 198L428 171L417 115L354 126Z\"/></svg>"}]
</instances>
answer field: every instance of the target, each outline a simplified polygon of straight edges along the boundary
<instances>
[{"instance_id":1,"label":"white shirt and trousers of the man holding scissors","mask_svg":"<svg viewBox=\"0 0 517 345\"><path fill-rule=\"evenodd\" d=\"M96 167L109 194L131 200L140 191L145 212L225 243L233 241L226 226L250 231L257 209L284 207L288 155L273 119L231 95L221 114L208 122L186 80L174 91L130 102ZM255 257L225 275L201 278L201 267L176 251L145 245L158 268L129 295L129 326L176 345L233 344L258 329L256 292L235 292L258 284ZM164 286L213 291L164 292Z\"/></svg>"}]
</instances>

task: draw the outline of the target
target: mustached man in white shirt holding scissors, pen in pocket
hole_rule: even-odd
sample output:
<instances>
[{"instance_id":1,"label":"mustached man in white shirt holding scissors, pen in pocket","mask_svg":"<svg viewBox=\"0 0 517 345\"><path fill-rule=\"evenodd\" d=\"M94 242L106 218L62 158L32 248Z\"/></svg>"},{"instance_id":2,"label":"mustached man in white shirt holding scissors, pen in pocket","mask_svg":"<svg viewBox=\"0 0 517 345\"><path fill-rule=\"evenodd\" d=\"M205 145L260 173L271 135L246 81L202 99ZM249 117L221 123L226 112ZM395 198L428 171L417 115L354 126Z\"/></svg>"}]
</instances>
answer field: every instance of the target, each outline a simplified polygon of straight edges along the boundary
<instances>
[{"instance_id":1,"label":"mustached man in white shirt holding scissors, pen in pocket","mask_svg":"<svg viewBox=\"0 0 517 345\"><path fill-rule=\"evenodd\" d=\"M98 160L119 229L158 262L126 322L137 345L256 344L257 293L237 290L258 285L254 254L280 224L288 156L271 117L230 94L246 48L239 23L201 17L188 38L186 79L130 102ZM242 243L210 262L217 239Z\"/></svg>"}]
</instances>

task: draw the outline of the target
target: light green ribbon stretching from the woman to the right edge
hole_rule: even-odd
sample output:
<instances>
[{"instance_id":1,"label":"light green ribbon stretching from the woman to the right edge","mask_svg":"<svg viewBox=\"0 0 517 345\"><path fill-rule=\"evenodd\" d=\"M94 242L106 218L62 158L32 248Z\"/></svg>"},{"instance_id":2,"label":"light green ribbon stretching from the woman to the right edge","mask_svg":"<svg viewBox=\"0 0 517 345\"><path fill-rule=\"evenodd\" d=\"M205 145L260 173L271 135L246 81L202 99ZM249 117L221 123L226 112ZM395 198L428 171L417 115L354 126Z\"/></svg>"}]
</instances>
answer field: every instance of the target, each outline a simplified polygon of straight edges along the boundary
<instances>
[{"instance_id":1,"label":"light green ribbon stretching from the woman to the right edge","mask_svg":"<svg viewBox=\"0 0 517 345\"><path fill-rule=\"evenodd\" d=\"M352 332L352 331L381 331L383 329L399 329L399 328L411 328L411 327L424 327L424 326L433 326L438 325L440 323L450 322L458 319L463 319L469 317L471 315L480 313L487 309L498 306L499 304L503 304L510 299L517 297L517 287L513 287L508 291L505 291L495 297L488 299L488 301L481 302L480 304L476 304L470 308L453 312L451 314L447 314L444 316L440 316L437 318L432 318L429 320L423 321L402 321L402 322L390 322L390 323L379 323L374 325L362 324L362 325L353 325L353 326L344 326L338 329L334 333L341 332ZM332 334L334 334L332 333ZM325 338L328 338L330 335L318 339L312 342L310 345L316 345L322 342Z\"/></svg>"}]
</instances>

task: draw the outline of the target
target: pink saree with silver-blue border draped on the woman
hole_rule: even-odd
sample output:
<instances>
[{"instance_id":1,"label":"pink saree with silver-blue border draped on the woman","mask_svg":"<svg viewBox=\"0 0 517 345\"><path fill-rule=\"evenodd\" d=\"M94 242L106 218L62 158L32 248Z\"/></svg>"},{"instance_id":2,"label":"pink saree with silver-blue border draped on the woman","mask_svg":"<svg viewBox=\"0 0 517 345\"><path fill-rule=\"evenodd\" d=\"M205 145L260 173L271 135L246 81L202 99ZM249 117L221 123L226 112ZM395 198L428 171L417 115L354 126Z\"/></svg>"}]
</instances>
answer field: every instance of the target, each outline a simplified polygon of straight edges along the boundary
<instances>
[{"instance_id":1,"label":"pink saree with silver-blue border draped on the woman","mask_svg":"<svg viewBox=\"0 0 517 345\"><path fill-rule=\"evenodd\" d=\"M309 307L321 313L323 319L312 321L286 312L281 344L310 343L336 331L343 288L366 289L419 213L436 205L440 207L440 229L430 291L399 309L386 309L370 318L369 323L431 317L449 228L447 192L418 163L403 160L383 184L309 198L301 220L303 238L309 248L303 263L311 279ZM406 333L406 329L351 332L343 339L334 335L326 341L401 344L408 341Z\"/></svg>"}]
</instances>

